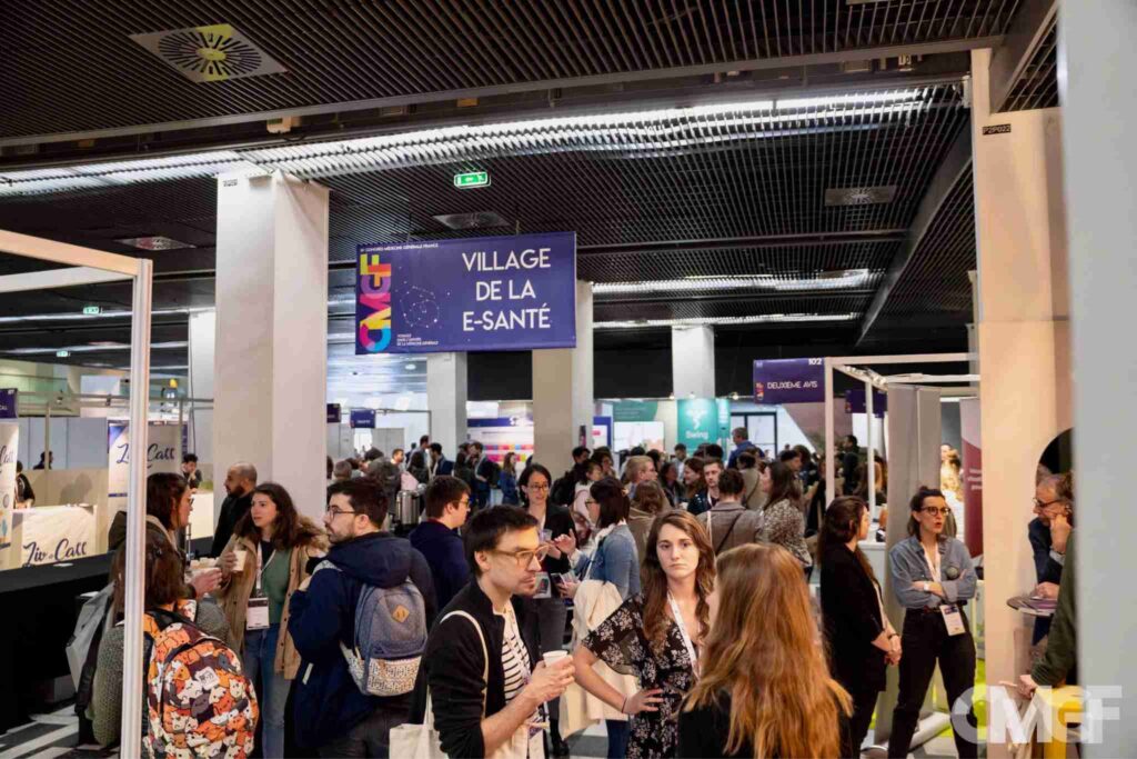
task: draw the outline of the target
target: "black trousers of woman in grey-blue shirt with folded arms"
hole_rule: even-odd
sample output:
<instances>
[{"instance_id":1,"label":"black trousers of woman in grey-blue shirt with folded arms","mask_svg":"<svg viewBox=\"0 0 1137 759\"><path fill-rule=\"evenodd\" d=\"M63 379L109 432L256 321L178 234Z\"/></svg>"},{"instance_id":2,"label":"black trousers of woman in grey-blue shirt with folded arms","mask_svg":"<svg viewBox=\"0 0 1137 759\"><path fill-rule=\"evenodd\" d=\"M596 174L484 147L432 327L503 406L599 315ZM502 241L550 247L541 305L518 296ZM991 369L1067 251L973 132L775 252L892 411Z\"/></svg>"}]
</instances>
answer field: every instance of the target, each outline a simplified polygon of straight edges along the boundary
<instances>
[{"instance_id":1,"label":"black trousers of woman in grey-blue shirt with folded arms","mask_svg":"<svg viewBox=\"0 0 1137 759\"><path fill-rule=\"evenodd\" d=\"M962 612L961 612L962 613ZM968 618L963 617L968 627ZM893 712L893 735L888 741L888 756L903 759L908 756L912 734L920 721L920 708L928 694L928 685L939 662L947 690L947 702L955 703L966 694L968 724L976 728L976 712L971 708L970 690L976 685L976 643L971 629L962 635L948 635L939 610L929 612L908 609L904 613L904 634L901 636L904 655L901 657L901 694ZM979 748L955 731L955 749L961 759L979 756Z\"/></svg>"}]
</instances>

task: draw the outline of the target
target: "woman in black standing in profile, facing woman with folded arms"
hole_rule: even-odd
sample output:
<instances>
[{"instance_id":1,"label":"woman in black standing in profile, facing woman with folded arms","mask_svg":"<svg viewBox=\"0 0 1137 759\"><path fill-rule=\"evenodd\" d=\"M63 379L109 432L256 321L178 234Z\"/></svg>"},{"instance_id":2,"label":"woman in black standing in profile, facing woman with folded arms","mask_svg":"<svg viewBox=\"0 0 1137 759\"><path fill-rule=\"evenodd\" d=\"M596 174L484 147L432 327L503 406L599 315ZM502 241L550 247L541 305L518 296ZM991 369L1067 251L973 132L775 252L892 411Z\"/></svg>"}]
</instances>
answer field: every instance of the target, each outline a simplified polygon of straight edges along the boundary
<instances>
[{"instance_id":1,"label":"woman in black standing in profile, facing woman with folded arms","mask_svg":"<svg viewBox=\"0 0 1137 759\"><path fill-rule=\"evenodd\" d=\"M825 510L818 541L821 613L829 643L829 669L853 696L852 756L860 756L885 669L901 660L901 637L885 616L880 586L857 546L869 536L869 505L855 496Z\"/></svg>"}]
</instances>

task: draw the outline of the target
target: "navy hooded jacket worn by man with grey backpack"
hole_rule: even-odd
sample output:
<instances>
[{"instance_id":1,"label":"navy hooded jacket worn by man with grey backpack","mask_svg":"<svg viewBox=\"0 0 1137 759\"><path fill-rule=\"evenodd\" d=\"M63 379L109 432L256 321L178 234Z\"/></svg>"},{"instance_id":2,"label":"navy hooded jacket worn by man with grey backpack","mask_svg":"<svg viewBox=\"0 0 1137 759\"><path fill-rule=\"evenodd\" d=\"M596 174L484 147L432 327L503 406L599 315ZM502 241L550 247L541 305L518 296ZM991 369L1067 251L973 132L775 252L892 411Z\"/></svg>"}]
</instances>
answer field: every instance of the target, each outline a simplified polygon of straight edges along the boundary
<instances>
[{"instance_id":1,"label":"navy hooded jacket worn by man with grey backpack","mask_svg":"<svg viewBox=\"0 0 1137 759\"><path fill-rule=\"evenodd\" d=\"M292 685L296 739L308 748L342 737L379 707L409 710L408 695L360 693L340 651L340 643L355 645L356 604L364 585L390 588L409 578L423 595L428 629L437 609L430 567L405 538L372 533L333 545L326 559L340 571L314 574L308 589L293 593L289 603L288 632L301 657Z\"/></svg>"}]
</instances>

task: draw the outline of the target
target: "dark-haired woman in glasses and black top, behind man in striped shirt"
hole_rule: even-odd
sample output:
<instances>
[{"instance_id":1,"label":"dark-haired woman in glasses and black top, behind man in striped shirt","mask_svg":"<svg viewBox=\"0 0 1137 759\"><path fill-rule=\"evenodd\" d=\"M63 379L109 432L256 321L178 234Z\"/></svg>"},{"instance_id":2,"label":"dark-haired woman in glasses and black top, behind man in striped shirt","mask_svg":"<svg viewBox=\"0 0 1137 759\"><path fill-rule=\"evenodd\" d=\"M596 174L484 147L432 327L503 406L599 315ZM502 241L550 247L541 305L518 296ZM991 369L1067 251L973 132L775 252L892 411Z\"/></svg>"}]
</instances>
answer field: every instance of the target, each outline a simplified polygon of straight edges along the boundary
<instances>
[{"instance_id":1,"label":"dark-haired woman in glasses and black top, behind man in striped shirt","mask_svg":"<svg viewBox=\"0 0 1137 759\"><path fill-rule=\"evenodd\" d=\"M572 521L572 514L565 506L549 503L549 488L553 485L553 476L549 470L540 464L531 464L525 468L517 480L521 489L522 501L529 514L537 519L541 545L548 547L549 553L541 561L541 572L537 576L537 595L528 602L534 612L539 625L539 647L543 655L547 651L559 651L564 649L565 622L568 619L568 610L565 608L561 592L555 588L553 578L556 575L572 571L568 556L564 555L553 543L562 535L575 537L576 526ZM549 734L553 741L553 756L567 757L568 746L561 740L558 719L559 699L554 699L548 703Z\"/></svg>"}]
</instances>

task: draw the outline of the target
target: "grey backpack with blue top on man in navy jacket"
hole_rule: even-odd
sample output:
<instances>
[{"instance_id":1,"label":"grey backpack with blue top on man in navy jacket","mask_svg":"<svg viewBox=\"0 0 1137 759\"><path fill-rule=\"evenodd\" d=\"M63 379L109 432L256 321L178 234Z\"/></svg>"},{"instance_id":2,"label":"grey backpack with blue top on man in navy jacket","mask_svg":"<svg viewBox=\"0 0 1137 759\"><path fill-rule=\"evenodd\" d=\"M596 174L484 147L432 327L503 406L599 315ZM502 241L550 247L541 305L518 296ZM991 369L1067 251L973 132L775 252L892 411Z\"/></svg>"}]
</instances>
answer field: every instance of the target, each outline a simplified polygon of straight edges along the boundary
<instances>
[{"instance_id":1,"label":"grey backpack with blue top on man in navy jacket","mask_svg":"<svg viewBox=\"0 0 1137 759\"><path fill-rule=\"evenodd\" d=\"M315 571L340 568L322 561ZM426 603L408 577L395 587L364 584L356 603L355 647L340 643L348 670L364 695L410 693L426 650Z\"/></svg>"}]
</instances>

